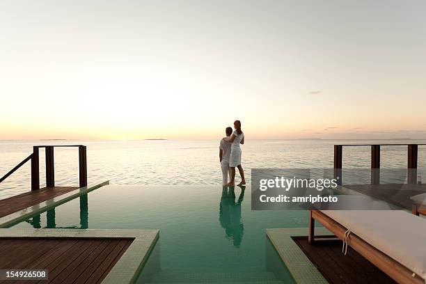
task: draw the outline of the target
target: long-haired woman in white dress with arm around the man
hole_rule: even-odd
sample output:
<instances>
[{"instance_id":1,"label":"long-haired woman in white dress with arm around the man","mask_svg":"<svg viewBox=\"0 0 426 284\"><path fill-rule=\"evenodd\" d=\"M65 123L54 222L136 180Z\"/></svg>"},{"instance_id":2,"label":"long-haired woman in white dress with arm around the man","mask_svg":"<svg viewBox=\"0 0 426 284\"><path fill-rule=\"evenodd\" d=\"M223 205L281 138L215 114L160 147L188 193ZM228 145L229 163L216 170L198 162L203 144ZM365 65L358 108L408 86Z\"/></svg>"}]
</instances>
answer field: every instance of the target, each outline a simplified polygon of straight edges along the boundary
<instances>
[{"instance_id":1,"label":"long-haired woman in white dress with arm around the man","mask_svg":"<svg viewBox=\"0 0 426 284\"><path fill-rule=\"evenodd\" d=\"M235 120L234 128L235 131L232 132L232 135L230 137L223 138L231 143L231 153L229 161L229 166L231 168L231 177L230 182L227 185L234 185L235 167L237 167L239 175L241 175L241 182L238 185L241 186L246 184L246 179L244 178L244 171L241 166L241 148L239 148L239 144L244 144L244 133L241 130L241 122L239 120Z\"/></svg>"}]
</instances>

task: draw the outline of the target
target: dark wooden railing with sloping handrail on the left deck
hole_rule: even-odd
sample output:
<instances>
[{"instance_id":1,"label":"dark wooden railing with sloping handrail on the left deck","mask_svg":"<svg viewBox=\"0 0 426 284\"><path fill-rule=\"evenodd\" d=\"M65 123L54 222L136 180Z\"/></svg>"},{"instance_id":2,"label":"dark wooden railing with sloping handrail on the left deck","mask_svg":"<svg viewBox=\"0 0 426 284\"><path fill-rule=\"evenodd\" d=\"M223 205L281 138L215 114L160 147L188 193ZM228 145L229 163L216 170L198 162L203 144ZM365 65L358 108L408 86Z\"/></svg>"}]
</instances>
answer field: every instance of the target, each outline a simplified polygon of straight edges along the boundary
<instances>
[{"instance_id":1,"label":"dark wooden railing with sloping handrail on the left deck","mask_svg":"<svg viewBox=\"0 0 426 284\"><path fill-rule=\"evenodd\" d=\"M57 147L78 147L79 148L79 185L87 186L87 156L85 145L37 145L33 146L33 153L21 161L15 168L10 170L0 182L6 180L10 175L23 166L27 161L31 160L31 191L40 189L40 161L39 149L45 148L46 155L46 187L55 186L55 166L54 166L54 148Z\"/></svg>"}]
</instances>

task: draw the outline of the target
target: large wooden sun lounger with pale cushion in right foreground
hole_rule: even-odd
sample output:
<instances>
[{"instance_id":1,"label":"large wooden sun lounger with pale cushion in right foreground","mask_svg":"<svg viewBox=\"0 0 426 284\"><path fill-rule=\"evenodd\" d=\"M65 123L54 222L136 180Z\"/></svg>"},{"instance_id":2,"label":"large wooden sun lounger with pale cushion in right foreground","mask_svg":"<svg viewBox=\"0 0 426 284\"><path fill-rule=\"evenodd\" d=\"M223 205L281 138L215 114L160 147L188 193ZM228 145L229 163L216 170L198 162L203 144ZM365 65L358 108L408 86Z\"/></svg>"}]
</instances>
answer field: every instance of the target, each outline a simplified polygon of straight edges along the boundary
<instances>
[{"instance_id":1,"label":"large wooden sun lounger with pale cushion in right foreground","mask_svg":"<svg viewBox=\"0 0 426 284\"><path fill-rule=\"evenodd\" d=\"M311 210L315 220L398 283L426 283L426 220L408 212Z\"/></svg>"}]
</instances>

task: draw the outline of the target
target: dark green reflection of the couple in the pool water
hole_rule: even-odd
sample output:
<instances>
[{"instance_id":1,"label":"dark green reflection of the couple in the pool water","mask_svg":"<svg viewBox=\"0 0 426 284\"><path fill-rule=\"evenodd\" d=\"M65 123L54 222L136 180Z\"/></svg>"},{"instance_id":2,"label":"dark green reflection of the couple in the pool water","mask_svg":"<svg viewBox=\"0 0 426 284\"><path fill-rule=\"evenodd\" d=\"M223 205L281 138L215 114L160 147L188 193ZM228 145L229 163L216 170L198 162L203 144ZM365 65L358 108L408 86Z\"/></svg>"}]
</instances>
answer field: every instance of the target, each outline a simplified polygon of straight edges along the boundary
<instances>
[{"instance_id":1,"label":"dark green reflection of the couple in the pool water","mask_svg":"<svg viewBox=\"0 0 426 284\"><path fill-rule=\"evenodd\" d=\"M219 205L219 221L225 229L226 237L232 239L234 246L240 246L244 233L244 225L241 218L241 204L244 199L244 190L235 202L235 187L222 187L221 203Z\"/></svg>"}]
</instances>

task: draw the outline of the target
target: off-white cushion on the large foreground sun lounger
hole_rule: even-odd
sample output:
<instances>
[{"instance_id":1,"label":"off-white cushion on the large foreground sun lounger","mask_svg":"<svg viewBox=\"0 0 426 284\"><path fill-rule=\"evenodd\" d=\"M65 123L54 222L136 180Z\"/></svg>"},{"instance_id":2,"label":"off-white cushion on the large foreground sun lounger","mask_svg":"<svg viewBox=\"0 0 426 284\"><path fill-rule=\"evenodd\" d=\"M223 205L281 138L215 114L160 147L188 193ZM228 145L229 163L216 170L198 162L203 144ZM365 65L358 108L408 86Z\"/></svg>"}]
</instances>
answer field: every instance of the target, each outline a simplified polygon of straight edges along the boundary
<instances>
[{"instance_id":1,"label":"off-white cushion on the large foreground sun lounger","mask_svg":"<svg viewBox=\"0 0 426 284\"><path fill-rule=\"evenodd\" d=\"M322 213L426 280L426 219L399 210Z\"/></svg>"}]
</instances>

